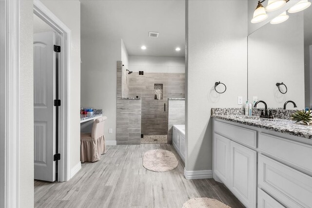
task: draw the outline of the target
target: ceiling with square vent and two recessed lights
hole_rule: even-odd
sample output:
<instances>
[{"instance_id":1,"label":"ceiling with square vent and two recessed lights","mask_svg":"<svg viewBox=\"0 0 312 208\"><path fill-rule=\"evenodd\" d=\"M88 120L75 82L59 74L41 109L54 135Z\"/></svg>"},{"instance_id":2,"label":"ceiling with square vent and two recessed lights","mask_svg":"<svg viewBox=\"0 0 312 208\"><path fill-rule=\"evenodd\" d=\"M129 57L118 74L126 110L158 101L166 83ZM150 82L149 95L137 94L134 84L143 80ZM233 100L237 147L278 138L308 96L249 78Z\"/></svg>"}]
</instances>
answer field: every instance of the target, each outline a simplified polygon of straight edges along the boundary
<instances>
[{"instance_id":1,"label":"ceiling with square vent and two recessed lights","mask_svg":"<svg viewBox=\"0 0 312 208\"><path fill-rule=\"evenodd\" d=\"M185 56L184 0L80 2L82 38L121 38L129 56ZM159 37L149 38L148 32L159 32Z\"/></svg>"}]
</instances>

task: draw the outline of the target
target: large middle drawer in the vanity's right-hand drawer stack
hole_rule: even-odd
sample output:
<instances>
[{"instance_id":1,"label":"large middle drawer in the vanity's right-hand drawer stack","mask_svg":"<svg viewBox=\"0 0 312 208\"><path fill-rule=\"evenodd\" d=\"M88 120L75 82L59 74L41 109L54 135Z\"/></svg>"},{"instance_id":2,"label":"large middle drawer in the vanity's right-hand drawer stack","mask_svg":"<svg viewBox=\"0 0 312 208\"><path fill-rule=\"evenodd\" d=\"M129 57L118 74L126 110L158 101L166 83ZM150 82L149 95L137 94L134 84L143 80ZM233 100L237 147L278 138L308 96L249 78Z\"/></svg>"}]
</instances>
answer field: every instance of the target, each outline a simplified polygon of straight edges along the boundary
<instances>
[{"instance_id":1,"label":"large middle drawer in the vanity's right-hand drawer stack","mask_svg":"<svg viewBox=\"0 0 312 208\"><path fill-rule=\"evenodd\" d=\"M258 155L258 187L290 208L312 208L312 177L262 154Z\"/></svg>"}]
</instances>

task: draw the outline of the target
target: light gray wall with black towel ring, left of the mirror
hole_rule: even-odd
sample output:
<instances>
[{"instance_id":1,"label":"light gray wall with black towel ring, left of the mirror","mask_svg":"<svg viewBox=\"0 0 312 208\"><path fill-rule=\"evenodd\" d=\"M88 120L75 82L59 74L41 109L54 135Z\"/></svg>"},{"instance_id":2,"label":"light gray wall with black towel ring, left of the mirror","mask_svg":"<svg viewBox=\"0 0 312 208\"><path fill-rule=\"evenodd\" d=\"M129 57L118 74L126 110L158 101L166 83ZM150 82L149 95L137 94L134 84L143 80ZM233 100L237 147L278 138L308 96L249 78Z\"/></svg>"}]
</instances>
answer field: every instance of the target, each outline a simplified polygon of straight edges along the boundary
<instances>
[{"instance_id":1,"label":"light gray wall with black towel ring, left of the mirror","mask_svg":"<svg viewBox=\"0 0 312 208\"><path fill-rule=\"evenodd\" d=\"M187 8L188 7L188 8ZM185 169L212 170L211 108L241 107L247 96L247 1L189 0ZM214 84L227 91L216 94Z\"/></svg>"}]
</instances>

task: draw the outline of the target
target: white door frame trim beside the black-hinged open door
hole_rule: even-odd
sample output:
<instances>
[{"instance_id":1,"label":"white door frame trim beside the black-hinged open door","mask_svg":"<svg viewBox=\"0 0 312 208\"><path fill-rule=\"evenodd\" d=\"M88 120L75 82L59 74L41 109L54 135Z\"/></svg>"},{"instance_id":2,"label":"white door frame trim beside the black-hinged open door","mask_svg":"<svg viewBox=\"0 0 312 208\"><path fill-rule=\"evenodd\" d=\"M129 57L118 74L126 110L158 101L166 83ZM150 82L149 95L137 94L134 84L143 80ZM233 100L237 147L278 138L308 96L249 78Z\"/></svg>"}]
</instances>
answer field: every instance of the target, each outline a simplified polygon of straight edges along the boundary
<instances>
[{"instance_id":1,"label":"white door frame trim beside the black-hinged open door","mask_svg":"<svg viewBox=\"0 0 312 208\"><path fill-rule=\"evenodd\" d=\"M71 139L71 30L55 16L41 1L34 0L34 14L45 21L60 34L61 52L59 53L59 153L58 181L71 178L70 139Z\"/></svg>"}]
</instances>

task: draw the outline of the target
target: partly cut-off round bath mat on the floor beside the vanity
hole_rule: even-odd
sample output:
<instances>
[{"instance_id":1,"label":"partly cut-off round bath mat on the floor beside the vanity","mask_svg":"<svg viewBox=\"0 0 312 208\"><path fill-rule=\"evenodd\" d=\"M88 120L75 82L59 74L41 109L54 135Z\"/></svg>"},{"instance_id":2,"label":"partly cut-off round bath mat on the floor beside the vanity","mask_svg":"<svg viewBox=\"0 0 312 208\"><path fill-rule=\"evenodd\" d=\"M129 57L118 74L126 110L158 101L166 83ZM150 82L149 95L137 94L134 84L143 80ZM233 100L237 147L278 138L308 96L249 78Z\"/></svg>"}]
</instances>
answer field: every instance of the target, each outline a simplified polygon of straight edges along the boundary
<instances>
[{"instance_id":1,"label":"partly cut-off round bath mat on the floor beside the vanity","mask_svg":"<svg viewBox=\"0 0 312 208\"><path fill-rule=\"evenodd\" d=\"M216 199L193 198L185 202L182 208L231 208Z\"/></svg>"}]
</instances>

